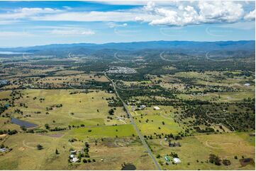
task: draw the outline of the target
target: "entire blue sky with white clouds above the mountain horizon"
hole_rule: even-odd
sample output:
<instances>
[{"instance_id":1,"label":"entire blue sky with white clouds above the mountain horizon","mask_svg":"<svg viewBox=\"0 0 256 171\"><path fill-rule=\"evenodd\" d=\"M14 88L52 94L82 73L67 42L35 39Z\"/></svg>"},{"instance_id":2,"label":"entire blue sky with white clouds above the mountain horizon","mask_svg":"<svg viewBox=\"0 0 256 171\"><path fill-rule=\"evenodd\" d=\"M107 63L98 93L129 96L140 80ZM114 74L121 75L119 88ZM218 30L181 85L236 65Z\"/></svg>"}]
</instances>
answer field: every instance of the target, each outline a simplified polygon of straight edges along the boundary
<instances>
[{"instance_id":1,"label":"entire blue sky with white clouds above the mountain horizon","mask_svg":"<svg viewBox=\"0 0 256 171\"><path fill-rule=\"evenodd\" d=\"M0 47L255 40L255 1L0 1Z\"/></svg>"}]
</instances>

